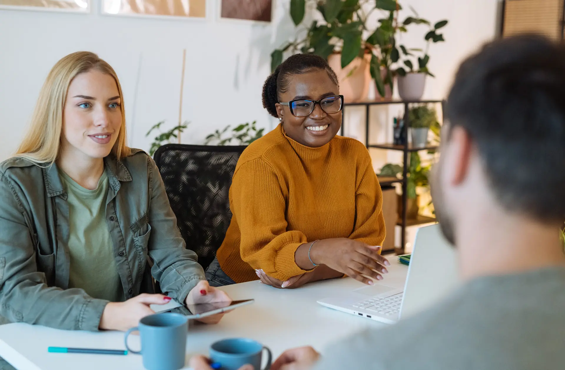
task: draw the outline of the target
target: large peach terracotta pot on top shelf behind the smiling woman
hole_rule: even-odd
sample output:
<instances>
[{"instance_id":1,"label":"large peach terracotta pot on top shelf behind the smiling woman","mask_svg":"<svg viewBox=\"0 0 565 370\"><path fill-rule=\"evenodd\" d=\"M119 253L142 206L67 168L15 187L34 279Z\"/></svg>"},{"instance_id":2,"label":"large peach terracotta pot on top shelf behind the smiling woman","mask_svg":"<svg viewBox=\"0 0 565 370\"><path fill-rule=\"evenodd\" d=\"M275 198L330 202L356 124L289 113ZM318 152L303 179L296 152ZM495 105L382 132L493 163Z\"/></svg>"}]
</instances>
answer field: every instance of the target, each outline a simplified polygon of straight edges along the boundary
<instances>
[{"instance_id":1,"label":"large peach terracotta pot on top shelf behind the smiling woman","mask_svg":"<svg viewBox=\"0 0 565 370\"><path fill-rule=\"evenodd\" d=\"M355 103L367 99L369 83L371 82L371 54L364 58L355 58L345 68L341 68L341 54L331 54L328 64L337 74L340 81L340 93L346 103Z\"/></svg>"}]
</instances>

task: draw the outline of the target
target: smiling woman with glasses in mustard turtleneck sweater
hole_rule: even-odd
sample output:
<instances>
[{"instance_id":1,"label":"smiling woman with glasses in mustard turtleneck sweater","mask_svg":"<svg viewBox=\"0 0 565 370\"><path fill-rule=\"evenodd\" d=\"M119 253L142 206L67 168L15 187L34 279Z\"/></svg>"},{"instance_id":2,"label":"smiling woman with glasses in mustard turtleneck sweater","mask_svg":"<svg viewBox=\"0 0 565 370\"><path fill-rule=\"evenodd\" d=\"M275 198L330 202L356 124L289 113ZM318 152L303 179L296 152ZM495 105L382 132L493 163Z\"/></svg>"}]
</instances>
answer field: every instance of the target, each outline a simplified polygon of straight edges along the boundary
<instances>
[{"instance_id":1,"label":"smiling woman with glasses in mustard turtleneck sweater","mask_svg":"<svg viewBox=\"0 0 565 370\"><path fill-rule=\"evenodd\" d=\"M382 192L367 148L336 136L343 104L336 74L319 56L293 55L267 78L263 106L280 124L237 163L232 222L206 271L211 285L383 279Z\"/></svg>"}]
</instances>

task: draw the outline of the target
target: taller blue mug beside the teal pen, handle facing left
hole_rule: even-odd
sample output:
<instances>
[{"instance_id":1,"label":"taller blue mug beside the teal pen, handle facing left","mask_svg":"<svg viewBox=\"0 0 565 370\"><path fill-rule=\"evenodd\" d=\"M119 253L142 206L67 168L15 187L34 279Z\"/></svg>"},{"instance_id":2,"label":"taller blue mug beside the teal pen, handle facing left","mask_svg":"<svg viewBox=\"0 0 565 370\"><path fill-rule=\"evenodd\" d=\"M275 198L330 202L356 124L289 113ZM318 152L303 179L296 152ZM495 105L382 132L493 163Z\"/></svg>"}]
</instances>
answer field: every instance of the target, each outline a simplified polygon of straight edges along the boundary
<instances>
[{"instance_id":1,"label":"taller blue mug beside the teal pen, handle facing left","mask_svg":"<svg viewBox=\"0 0 565 370\"><path fill-rule=\"evenodd\" d=\"M140 351L128 346L128 336L134 331L140 332ZM147 370L178 370L184 367L187 333L188 319L184 315L171 312L149 315L125 333L125 347L143 356Z\"/></svg>"}]
</instances>

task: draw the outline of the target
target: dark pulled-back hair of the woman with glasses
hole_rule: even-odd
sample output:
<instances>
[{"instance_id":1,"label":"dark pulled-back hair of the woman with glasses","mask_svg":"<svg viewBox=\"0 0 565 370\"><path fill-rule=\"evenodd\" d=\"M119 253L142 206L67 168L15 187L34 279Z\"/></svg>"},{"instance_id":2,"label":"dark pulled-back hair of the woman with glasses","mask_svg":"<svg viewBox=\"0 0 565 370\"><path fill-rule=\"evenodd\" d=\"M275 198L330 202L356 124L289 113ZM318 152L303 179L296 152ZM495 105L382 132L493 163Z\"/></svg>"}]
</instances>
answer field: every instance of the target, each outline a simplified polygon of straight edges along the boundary
<instances>
[{"instance_id":1,"label":"dark pulled-back hair of the woman with glasses","mask_svg":"<svg viewBox=\"0 0 565 370\"><path fill-rule=\"evenodd\" d=\"M336 72L333 72L333 69L329 67L327 60L314 54L295 54L283 61L275 69L275 72L267 77L263 85L263 107L267 109L271 116L279 117L275 104L279 102L279 94L288 90L289 77L295 74L312 72L316 69L324 69L328 72L329 78L339 86Z\"/></svg>"}]
</instances>

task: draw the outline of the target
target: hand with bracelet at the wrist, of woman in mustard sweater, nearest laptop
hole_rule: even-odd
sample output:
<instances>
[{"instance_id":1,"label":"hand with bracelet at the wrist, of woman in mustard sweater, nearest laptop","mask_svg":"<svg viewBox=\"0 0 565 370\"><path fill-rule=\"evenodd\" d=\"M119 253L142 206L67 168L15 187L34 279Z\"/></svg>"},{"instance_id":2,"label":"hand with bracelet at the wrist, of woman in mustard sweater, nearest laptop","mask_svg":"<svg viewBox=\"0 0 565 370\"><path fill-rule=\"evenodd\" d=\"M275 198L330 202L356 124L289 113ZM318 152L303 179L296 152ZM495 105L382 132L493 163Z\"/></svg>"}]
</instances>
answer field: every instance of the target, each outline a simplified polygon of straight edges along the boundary
<instances>
[{"instance_id":1,"label":"hand with bracelet at the wrist, of woman in mustard sweater, nearest laptop","mask_svg":"<svg viewBox=\"0 0 565 370\"><path fill-rule=\"evenodd\" d=\"M388 273L385 266L390 262L379 254L380 246L371 246L345 237L319 240L310 249L310 258L316 265L324 264L333 270L373 285L371 279L382 280L379 274ZM363 276L364 275L364 276Z\"/></svg>"}]
</instances>

